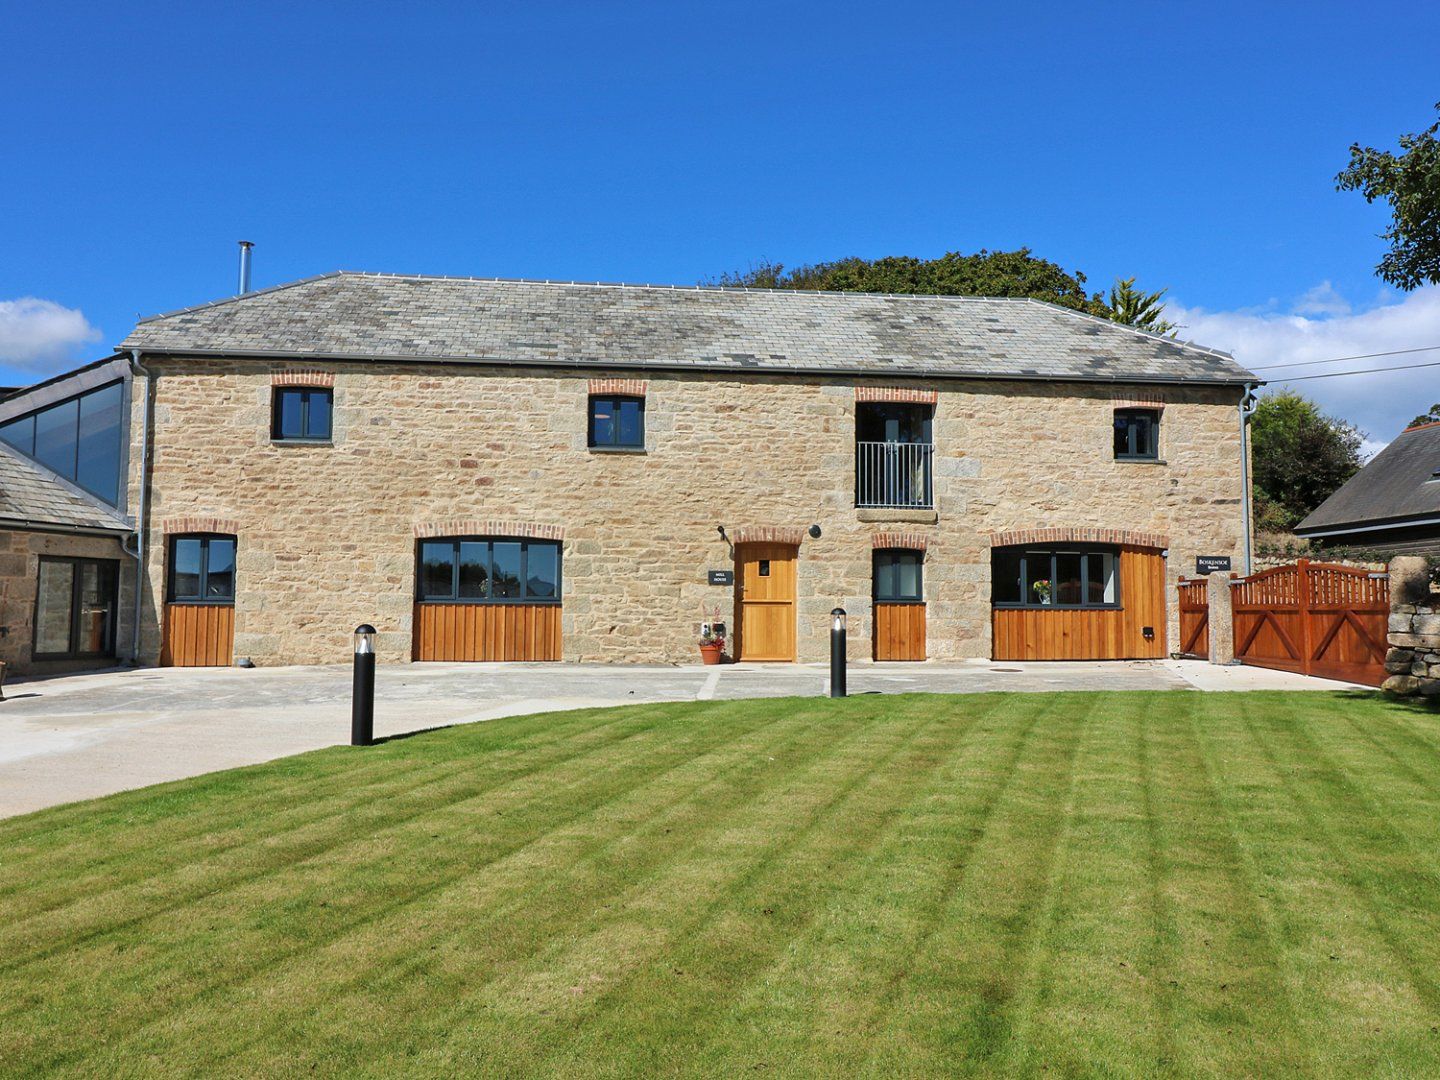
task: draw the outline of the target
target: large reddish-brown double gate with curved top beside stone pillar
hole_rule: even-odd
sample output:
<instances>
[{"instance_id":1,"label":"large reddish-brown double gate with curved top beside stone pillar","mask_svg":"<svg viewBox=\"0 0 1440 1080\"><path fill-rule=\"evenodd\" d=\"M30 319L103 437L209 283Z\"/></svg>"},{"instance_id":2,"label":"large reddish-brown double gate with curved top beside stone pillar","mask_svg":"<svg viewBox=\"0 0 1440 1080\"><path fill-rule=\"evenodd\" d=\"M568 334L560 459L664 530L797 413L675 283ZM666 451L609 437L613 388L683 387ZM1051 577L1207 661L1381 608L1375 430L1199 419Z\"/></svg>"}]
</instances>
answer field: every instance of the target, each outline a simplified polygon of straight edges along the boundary
<instances>
[{"instance_id":1,"label":"large reddish-brown double gate with curved top beside stone pillar","mask_svg":"<svg viewBox=\"0 0 1440 1080\"><path fill-rule=\"evenodd\" d=\"M1385 681L1385 575L1302 559L1237 579L1231 600L1243 664L1372 687Z\"/></svg>"}]
</instances>

